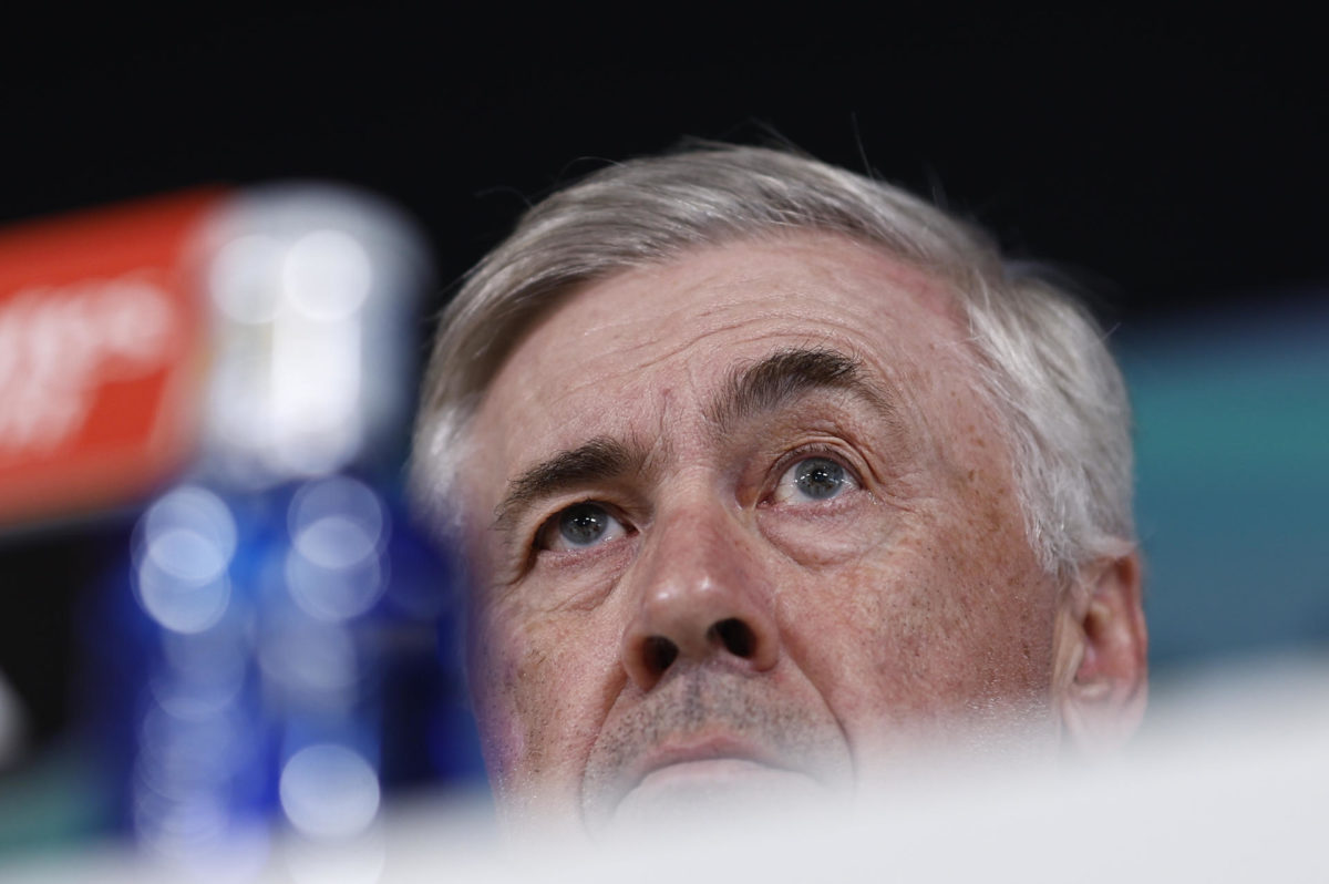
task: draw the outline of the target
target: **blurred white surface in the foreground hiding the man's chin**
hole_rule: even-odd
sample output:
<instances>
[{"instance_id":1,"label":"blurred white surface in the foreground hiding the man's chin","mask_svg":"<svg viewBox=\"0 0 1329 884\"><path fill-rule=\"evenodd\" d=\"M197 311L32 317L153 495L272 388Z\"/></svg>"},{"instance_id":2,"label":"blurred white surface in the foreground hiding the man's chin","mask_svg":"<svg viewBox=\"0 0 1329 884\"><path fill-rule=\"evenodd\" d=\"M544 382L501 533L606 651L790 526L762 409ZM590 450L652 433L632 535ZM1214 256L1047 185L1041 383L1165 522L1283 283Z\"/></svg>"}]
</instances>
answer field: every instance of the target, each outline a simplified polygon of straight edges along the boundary
<instances>
[{"instance_id":1,"label":"blurred white surface in the foreground hiding the man's chin","mask_svg":"<svg viewBox=\"0 0 1329 884\"><path fill-rule=\"evenodd\" d=\"M1075 770L950 772L852 815L730 814L593 852L504 848L466 804L389 807L354 844L271 845L260 881L1329 881L1329 663L1207 670L1156 690L1130 756ZM241 857L235 857L241 860ZM243 880L109 848L5 881Z\"/></svg>"}]
</instances>

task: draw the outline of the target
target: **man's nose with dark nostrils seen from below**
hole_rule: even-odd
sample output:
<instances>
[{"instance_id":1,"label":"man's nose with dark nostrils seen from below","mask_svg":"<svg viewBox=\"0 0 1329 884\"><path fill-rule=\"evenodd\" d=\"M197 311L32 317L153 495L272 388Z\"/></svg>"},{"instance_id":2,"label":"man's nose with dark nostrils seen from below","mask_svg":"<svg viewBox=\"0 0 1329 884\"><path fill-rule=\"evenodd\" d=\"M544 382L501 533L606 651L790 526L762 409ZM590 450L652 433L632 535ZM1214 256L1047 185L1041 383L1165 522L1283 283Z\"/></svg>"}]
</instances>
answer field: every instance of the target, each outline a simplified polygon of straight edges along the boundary
<instances>
[{"instance_id":1,"label":"man's nose with dark nostrils seen from below","mask_svg":"<svg viewBox=\"0 0 1329 884\"><path fill-rule=\"evenodd\" d=\"M649 691L680 661L764 671L780 657L766 569L742 525L719 506L657 518L630 578L637 609L623 667Z\"/></svg>"}]
</instances>

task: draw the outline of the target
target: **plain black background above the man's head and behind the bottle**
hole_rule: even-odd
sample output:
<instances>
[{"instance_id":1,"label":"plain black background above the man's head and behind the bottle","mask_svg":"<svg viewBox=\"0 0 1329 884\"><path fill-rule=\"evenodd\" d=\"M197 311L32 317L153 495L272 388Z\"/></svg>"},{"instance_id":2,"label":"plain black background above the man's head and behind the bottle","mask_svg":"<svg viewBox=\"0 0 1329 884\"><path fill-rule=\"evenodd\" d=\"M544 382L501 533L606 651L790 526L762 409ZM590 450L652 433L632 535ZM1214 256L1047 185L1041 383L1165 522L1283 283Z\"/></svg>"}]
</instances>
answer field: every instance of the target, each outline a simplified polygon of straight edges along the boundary
<instances>
[{"instance_id":1,"label":"plain black background above the man's head and behind the bottle","mask_svg":"<svg viewBox=\"0 0 1329 884\"><path fill-rule=\"evenodd\" d=\"M1110 324L1257 308L1256 292L1329 279L1329 77L1309 21L819 12L11 16L0 223L328 178L415 215L447 283L558 182L695 136L787 140L928 193L1086 279ZM0 542L0 670L41 739L66 723L70 600L96 542Z\"/></svg>"}]
</instances>

